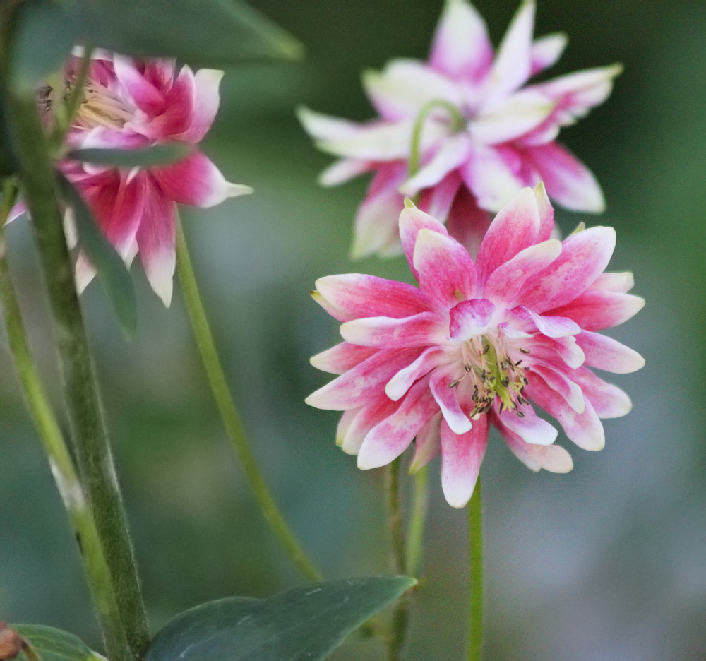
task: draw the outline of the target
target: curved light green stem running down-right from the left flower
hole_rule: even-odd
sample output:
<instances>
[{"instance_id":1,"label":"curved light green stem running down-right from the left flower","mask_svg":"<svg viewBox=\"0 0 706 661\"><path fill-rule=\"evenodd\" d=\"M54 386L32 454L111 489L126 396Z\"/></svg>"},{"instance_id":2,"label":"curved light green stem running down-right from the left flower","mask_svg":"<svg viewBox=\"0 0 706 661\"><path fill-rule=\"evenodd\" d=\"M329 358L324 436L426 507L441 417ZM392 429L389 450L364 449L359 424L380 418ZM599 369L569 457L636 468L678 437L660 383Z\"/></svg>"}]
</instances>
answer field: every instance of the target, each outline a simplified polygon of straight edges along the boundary
<instances>
[{"instance_id":1,"label":"curved light green stem running down-right from the left flower","mask_svg":"<svg viewBox=\"0 0 706 661\"><path fill-rule=\"evenodd\" d=\"M263 516L275 533L277 540L289 554L289 557L292 558L294 564L297 565L299 571L309 580L321 580L321 573L299 546L299 542L297 542L292 531L289 530L282 513L280 513L273 497L270 495L267 484L265 484L263 475L246 439L240 416L233 403L225 374L218 359L218 353L213 341L213 335L208 326L203 304L201 303L201 297L198 294L196 277L193 274L193 268L191 268L191 259L189 258L189 251L186 249L184 230L181 227L179 218L177 218L177 268L179 270L179 280L181 280L181 289L184 292L186 309L189 311L189 318L191 318L193 334L196 336L196 344L201 353L201 361L208 376L208 382L223 424L243 465L253 496L255 496Z\"/></svg>"}]
</instances>

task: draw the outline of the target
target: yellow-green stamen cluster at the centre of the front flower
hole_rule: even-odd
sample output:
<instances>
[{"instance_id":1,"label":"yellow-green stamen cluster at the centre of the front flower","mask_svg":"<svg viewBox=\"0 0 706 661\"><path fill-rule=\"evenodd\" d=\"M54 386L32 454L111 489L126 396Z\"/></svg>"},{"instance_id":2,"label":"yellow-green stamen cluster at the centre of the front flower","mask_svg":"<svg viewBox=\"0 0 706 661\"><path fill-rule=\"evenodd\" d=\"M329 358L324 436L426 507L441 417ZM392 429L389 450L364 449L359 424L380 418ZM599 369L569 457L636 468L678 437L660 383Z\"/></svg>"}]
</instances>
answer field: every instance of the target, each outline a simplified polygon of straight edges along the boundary
<instances>
[{"instance_id":1,"label":"yellow-green stamen cluster at the centre of the front flower","mask_svg":"<svg viewBox=\"0 0 706 661\"><path fill-rule=\"evenodd\" d=\"M528 403L522 395L527 385L525 369L520 367L522 358L513 359L500 338L478 335L463 343L460 349L463 374L460 379L451 381L448 387L455 388L468 377L466 387L473 388L471 419L477 420L481 414L488 412L496 398L500 400L500 412L517 410L519 405ZM529 353L527 349L520 348L519 351ZM517 415L524 417L520 410L517 410Z\"/></svg>"}]
</instances>

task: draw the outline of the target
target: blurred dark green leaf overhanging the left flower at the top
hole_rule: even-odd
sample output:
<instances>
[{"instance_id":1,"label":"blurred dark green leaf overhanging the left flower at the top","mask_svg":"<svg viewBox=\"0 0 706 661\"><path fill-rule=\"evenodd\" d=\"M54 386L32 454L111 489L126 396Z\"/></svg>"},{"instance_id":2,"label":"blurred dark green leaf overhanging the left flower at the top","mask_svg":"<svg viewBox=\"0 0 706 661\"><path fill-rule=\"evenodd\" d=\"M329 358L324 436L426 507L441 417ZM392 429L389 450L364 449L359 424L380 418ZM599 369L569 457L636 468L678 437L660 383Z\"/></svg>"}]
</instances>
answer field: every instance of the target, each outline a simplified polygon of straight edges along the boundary
<instances>
[{"instance_id":1,"label":"blurred dark green leaf overhanging the left flower at the top","mask_svg":"<svg viewBox=\"0 0 706 661\"><path fill-rule=\"evenodd\" d=\"M137 57L223 69L301 59L301 44L237 0L77 0L80 42Z\"/></svg>"}]
</instances>

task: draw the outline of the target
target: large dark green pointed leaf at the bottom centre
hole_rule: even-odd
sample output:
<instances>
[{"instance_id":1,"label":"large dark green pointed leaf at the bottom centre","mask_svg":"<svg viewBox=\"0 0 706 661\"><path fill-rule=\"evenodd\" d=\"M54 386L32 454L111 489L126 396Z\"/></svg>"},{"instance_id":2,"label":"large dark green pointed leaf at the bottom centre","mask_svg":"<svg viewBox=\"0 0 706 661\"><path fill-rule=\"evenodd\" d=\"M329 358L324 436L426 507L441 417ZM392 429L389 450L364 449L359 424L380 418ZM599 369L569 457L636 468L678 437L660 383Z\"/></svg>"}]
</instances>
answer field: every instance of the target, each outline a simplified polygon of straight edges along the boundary
<instances>
[{"instance_id":1,"label":"large dark green pointed leaf at the bottom centre","mask_svg":"<svg viewBox=\"0 0 706 661\"><path fill-rule=\"evenodd\" d=\"M145 661L316 661L416 581L407 576L315 583L271 599L192 608L152 641Z\"/></svg>"}]
</instances>

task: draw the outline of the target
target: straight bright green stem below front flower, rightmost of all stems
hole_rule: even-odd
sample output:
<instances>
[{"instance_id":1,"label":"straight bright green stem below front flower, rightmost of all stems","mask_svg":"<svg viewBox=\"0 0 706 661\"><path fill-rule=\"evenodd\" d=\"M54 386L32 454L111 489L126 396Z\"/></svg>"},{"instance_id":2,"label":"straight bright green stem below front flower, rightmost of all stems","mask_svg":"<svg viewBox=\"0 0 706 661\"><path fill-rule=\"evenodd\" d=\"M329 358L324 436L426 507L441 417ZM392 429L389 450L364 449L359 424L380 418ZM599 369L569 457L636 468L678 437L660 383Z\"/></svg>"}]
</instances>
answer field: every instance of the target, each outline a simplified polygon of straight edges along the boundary
<instances>
[{"instance_id":1,"label":"straight bright green stem below front flower, rightmost of all stems","mask_svg":"<svg viewBox=\"0 0 706 661\"><path fill-rule=\"evenodd\" d=\"M468 661L481 661L483 652L483 500L481 478L468 504L469 626Z\"/></svg>"}]
</instances>

